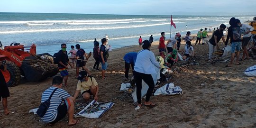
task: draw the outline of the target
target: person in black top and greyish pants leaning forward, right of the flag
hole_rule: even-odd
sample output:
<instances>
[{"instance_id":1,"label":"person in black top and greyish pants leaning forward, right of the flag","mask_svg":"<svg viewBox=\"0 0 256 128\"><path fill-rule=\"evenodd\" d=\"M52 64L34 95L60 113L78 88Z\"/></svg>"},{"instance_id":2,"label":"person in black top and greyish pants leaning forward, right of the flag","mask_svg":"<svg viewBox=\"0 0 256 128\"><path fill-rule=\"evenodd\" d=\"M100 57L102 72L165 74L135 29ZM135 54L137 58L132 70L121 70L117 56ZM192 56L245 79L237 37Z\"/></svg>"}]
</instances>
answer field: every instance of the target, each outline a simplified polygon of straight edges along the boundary
<instances>
[{"instance_id":1,"label":"person in black top and greyish pants leaning forward, right of the flag","mask_svg":"<svg viewBox=\"0 0 256 128\"><path fill-rule=\"evenodd\" d=\"M223 42L225 42L225 38L223 35L223 31L225 30L226 25L221 24L219 29L213 32L212 37L209 40L209 60L212 58L212 53L214 53L215 46L219 48L218 43L220 38L222 38Z\"/></svg>"}]
</instances>

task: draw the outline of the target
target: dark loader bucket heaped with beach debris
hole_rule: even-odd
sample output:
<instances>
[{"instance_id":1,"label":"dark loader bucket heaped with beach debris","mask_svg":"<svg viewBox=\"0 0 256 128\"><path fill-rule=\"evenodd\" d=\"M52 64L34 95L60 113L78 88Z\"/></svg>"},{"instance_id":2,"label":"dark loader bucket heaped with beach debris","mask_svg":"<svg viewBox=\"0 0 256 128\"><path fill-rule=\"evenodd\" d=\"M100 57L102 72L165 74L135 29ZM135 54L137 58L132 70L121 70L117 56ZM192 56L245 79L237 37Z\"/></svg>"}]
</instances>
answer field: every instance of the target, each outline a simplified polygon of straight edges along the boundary
<instances>
[{"instance_id":1,"label":"dark loader bucket heaped with beach debris","mask_svg":"<svg viewBox=\"0 0 256 128\"><path fill-rule=\"evenodd\" d=\"M51 63L51 57L48 53L25 57L21 69L26 79L37 82L56 75L59 70L56 64Z\"/></svg>"}]
</instances>

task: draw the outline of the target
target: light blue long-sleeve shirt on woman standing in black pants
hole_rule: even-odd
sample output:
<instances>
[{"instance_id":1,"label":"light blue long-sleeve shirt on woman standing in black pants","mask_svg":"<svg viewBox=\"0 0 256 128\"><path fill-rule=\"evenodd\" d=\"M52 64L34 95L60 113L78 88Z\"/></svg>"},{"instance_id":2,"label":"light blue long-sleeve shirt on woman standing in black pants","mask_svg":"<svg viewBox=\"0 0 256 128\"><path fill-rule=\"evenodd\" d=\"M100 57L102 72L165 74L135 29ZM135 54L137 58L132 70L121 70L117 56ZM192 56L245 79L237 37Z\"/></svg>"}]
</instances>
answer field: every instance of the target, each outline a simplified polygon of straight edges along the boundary
<instances>
[{"instance_id":1,"label":"light blue long-sleeve shirt on woman standing in black pants","mask_svg":"<svg viewBox=\"0 0 256 128\"><path fill-rule=\"evenodd\" d=\"M153 66L160 68L160 64L155 60L154 53L147 49L139 51L137 54L134 71L138 73L154 74L156 71Z\"/></svg>"}]
</instances>

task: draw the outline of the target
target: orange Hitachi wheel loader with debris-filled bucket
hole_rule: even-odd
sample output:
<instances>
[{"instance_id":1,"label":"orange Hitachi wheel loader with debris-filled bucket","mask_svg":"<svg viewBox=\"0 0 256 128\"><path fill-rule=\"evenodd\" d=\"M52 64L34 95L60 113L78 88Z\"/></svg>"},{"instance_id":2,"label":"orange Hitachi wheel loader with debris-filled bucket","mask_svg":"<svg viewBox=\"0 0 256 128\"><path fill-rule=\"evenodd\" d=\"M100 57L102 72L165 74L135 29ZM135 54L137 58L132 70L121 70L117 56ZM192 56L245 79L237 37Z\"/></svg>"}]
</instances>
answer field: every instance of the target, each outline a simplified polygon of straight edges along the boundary
<instances>
[{"instance_id":1,"label":"orange Hitachi wheel loader with debris-filled bucket","mask_svg":"<svg viewBox=\"0 0 256 128\"><path fill-rule=\"evenodd\" d=\"M29 48L29 49L25 49ZM37 82L56 75L58 67L48 53L37 55L36 45L24 46L11 43L2 46L0 42L0 62L6 61L7 71L3 73L8 87L18 85L22 76L30 82Z\"/></svg>"}]
</instances>

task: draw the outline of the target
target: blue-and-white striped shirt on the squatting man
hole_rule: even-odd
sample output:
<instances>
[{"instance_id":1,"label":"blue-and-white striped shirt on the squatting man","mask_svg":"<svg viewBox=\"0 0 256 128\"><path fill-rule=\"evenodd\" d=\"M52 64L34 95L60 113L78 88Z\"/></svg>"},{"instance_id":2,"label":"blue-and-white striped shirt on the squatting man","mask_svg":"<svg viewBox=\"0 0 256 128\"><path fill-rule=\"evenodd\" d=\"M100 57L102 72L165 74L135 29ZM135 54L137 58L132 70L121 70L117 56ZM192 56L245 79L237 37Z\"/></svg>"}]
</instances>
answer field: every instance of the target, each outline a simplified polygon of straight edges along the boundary
<instances>
[{"instance_id":1,"label":"blue-and-white striped shirt on the squatting man","mask_svg":"<svg viewBox=\"0 0 256 128\"><path fill-rule=\"evenodd\" d=\"M42 94L41 102L48 100L55 88L56 87L50 87L46 89L46 91L44 91ZM70 97L70 95L67 91L64 91L63 89L57 89L50 100L50 107L46 111L45 116L41 119L46 123L54 121L57 117L57 108L61 104L62 99L67 99L68 97Z\"/></svg>"}]
</instances>

